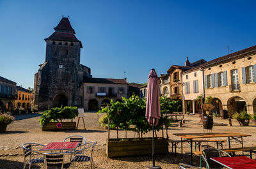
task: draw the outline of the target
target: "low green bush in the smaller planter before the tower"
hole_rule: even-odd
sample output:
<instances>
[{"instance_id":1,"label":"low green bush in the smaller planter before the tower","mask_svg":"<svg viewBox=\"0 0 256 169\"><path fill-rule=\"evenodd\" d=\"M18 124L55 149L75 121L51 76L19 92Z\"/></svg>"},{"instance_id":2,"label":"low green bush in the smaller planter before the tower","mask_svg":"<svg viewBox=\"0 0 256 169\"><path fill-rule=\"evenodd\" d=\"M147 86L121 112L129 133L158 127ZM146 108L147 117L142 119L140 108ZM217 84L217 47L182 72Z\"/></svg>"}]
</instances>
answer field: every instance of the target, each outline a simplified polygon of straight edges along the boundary
<instances>
[{"instance_id":1,"label":"low green bush in the smaller planter before the tower","mask_svg":"<svg viewBox=\"0 0 256 169\"><path fill-rule=\"evenodd\" d=\"M54 107L40 114L42 114L42 116L39 122L42 126L45 126L47 122L59 122L62 119L75 119L78 115L78 110L77 107Z\"/></svg>"}]
</instances>

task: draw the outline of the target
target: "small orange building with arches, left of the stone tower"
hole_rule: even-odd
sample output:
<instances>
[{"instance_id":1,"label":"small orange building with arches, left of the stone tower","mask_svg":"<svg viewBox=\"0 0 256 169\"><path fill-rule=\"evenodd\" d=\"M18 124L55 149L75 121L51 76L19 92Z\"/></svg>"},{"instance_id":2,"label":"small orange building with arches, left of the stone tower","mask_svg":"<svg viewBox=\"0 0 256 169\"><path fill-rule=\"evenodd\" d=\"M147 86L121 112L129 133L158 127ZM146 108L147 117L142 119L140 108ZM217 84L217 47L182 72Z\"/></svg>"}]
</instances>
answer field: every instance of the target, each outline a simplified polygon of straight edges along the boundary
<instances>
[{"instance_id":1,"label":"small orange building with arches, left of the stone tower","mask_svg":"<svg viewBox=\"0 0 256 169\"><path fill-rule=\"evenodd\" d=\"M15 108L31 110L32 92L20 86L16 86L17 99L15 100Z\"/></svg>"}]
</instances>

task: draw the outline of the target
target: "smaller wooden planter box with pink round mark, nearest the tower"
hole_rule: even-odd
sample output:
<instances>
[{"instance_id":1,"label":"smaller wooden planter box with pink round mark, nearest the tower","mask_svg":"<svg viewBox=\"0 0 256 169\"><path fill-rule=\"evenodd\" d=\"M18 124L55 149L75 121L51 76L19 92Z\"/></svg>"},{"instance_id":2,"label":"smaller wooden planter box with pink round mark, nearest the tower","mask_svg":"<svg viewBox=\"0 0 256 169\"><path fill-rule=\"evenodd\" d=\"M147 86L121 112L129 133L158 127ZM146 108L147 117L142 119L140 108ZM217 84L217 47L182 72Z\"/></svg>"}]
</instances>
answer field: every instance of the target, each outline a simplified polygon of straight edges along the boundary
<instances>
[{"instance_id":1,"label":"smaller wooden planter box with pink round mark, nearest the tower","mask_svg":"<svg viewBox=\"0 0 256 169\"><path fill-rule=\"evenodd\" d=\"M61 127L57 128L57 124L61 123ZM76 129L76 122L48 122L42 127L42 131L52 131L52 130L65 130L65 129Z\"/></svg>"}]
</instances>

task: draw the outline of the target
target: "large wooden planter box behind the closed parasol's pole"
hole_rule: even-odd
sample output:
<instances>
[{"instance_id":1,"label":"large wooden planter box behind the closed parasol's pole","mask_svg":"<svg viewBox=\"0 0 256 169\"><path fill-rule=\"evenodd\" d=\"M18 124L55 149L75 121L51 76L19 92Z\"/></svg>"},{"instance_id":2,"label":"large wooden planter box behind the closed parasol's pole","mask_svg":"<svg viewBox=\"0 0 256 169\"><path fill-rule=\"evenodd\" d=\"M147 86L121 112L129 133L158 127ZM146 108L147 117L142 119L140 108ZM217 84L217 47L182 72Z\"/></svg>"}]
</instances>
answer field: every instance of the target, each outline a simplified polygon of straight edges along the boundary
<instances>
[{"instance_id":1,"label":"large wooden planter box behind the closed parasol's pole","mask_svg":"<svg viewBox=\"0 0 256 169\"><path fill-rule=\"evenodd\" d=\"M154 154L168 153L168 142L165 138L155 138L154 147ZM125 141L107 139L106 154L108 158L150 155L152 154L152 138L142 138L141 140L127 138Z\"/></svg>"}]
</instances>

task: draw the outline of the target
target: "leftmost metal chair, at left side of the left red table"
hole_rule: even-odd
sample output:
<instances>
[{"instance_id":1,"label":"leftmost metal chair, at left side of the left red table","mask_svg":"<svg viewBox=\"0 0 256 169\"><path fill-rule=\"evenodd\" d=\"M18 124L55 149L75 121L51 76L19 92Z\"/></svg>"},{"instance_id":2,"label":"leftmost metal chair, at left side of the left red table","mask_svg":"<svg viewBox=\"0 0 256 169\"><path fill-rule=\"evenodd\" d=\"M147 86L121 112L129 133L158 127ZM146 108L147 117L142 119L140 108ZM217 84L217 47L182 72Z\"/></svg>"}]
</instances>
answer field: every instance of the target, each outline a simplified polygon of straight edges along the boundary
<instances>
[{"instance_id":1,"label":"leftmost metal chair, at left side of the left red table","mask_svg":"<svg viewBox=\"0 0 256 169\"><path fill-rule=\"evenodd\" d=\"M38 165L44 163L44 158L42 156L41 152L35 151L35 147L38 147L39 149L41 147L44 147L44 145L40 143L24 143L22 145L23 149L23 156L24 156L24 168L26 168L26 165L29 165L29 169L31 168L31 165Z\"/></svg>"}]
</instances>

